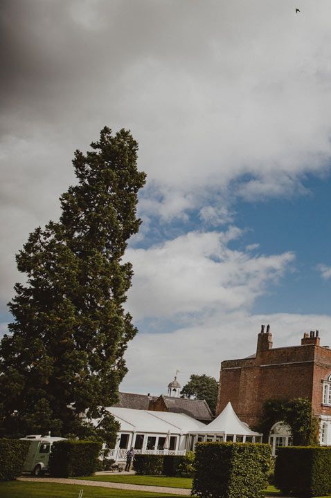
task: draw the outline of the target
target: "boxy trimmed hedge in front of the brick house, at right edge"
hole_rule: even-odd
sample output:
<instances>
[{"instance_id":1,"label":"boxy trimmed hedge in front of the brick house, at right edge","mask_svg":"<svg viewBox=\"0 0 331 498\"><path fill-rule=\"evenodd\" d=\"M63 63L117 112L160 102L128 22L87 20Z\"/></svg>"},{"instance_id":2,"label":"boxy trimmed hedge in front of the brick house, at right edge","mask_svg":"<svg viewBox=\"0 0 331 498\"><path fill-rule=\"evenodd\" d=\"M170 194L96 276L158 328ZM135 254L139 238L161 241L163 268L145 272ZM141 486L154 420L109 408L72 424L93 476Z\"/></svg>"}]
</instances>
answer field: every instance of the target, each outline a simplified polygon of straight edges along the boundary
<instances>
[{"instance_id":1,"label":"boxy trimmed hedge in front of the brick house, at right edge","mask_svg":"<svg viewBox=\"0 0 331 498\"><path fill-rule=\"evenodd\" d=\"M275 484L284 494L314 497L331 492L331 448L287 446L278 448Z\"/></svg>"}]
</instances>

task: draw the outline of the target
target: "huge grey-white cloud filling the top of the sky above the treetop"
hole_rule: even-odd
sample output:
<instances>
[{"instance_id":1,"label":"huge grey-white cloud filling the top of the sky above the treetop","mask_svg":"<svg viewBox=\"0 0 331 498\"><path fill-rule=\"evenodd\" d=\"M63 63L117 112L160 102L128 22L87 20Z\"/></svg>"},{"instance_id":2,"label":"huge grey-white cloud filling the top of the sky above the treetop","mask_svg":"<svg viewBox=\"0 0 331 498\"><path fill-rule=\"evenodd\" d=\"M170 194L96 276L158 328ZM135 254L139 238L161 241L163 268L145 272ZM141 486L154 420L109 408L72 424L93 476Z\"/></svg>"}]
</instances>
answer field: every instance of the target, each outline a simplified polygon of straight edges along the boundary
<instances>
[{"instance_id":1,"label":"huge grey-white cloud filling the top of the sky above the treetop","mask_svg":"<svg viewBox=\"0 0 331 498\"><path fill-rule=\"evenodd\" d=\"M294 8L7 3L1 198L14 222L1 238L5 302L17 279L13 254L57 217L73 150L85 150L104 124L132 129L151 187L139 210L161 222L186 221L195 209L204 223L229 223L238 196L304 192L306 173L328 169L331 3L302 0L300 16Z\"/></svg>"}]
</instances>

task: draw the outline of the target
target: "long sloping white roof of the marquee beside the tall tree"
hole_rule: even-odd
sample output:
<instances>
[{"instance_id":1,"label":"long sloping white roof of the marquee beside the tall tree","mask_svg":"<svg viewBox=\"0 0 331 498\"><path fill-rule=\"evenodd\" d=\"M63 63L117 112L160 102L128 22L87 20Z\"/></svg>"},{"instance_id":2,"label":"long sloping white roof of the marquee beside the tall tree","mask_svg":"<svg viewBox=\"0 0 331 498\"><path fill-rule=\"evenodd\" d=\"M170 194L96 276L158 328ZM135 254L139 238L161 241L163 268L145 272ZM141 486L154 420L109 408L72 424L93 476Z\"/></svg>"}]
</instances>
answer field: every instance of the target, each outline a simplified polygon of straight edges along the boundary
<instances>
[{"instance_id":1,"label":"long sloping white roof of the marquee beside the tall tree","mask_svg":"<svg viewBox=\"0 0 331 498\"><path fill-rule=\"evenodd\" d=\"M189 431L200 431L206 427L204 423L186 414L118 407L108 407L107 411L114 415L123 432L187 434Z\"/></svg>"}]
</instances>

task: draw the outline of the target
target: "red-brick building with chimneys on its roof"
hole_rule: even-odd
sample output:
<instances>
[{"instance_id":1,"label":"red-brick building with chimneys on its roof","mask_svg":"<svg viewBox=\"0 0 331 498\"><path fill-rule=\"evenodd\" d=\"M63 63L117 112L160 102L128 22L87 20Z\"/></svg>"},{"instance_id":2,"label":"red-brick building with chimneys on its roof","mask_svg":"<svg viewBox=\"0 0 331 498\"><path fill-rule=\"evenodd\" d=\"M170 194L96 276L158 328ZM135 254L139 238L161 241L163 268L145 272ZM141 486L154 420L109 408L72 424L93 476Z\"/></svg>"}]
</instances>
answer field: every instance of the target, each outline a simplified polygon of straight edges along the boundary
<instances>
[{"instance_id":1,"label":"red-brick building with chimneys on its roof","mask_svg":"<svg viewBox=\"0 0 331 498\"><path fill-rule=\"evenodd\" d=\"M305 333L300 346L273 349L270 327L262 325L256 354L222 362L216 415L231 401L240 420L253 427L270 398L310 399L321 444L331 445L331 349L320 346L319 331Z\"/></svg>"}]
</instances>

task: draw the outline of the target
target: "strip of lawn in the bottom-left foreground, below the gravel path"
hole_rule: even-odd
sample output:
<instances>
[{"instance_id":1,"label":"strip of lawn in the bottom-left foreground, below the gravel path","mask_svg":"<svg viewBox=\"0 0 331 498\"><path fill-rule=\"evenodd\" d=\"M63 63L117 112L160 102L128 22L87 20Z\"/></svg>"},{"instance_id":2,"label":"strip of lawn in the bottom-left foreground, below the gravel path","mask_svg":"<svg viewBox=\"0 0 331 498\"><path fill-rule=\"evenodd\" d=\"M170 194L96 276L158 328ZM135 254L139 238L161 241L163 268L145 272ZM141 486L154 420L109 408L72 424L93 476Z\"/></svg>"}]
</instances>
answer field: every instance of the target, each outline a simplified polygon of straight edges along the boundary
<instances>
[{"instance_id":1,"label":"strip of lawn in the bottom-left foreground, below the gravel path","mask_svg":"<svg viewBox=\"0 0 331 498\"><path fill-rule=\"evenodd\" d=\"M163 495L156 492L129 491L111 488L93 488L75 484L10 481L0 482L1 498L78 498L83 489L83 498L179 498L178 495ZM180 497L183 498L183 497Z\"/></svg>"}]
</instances>

